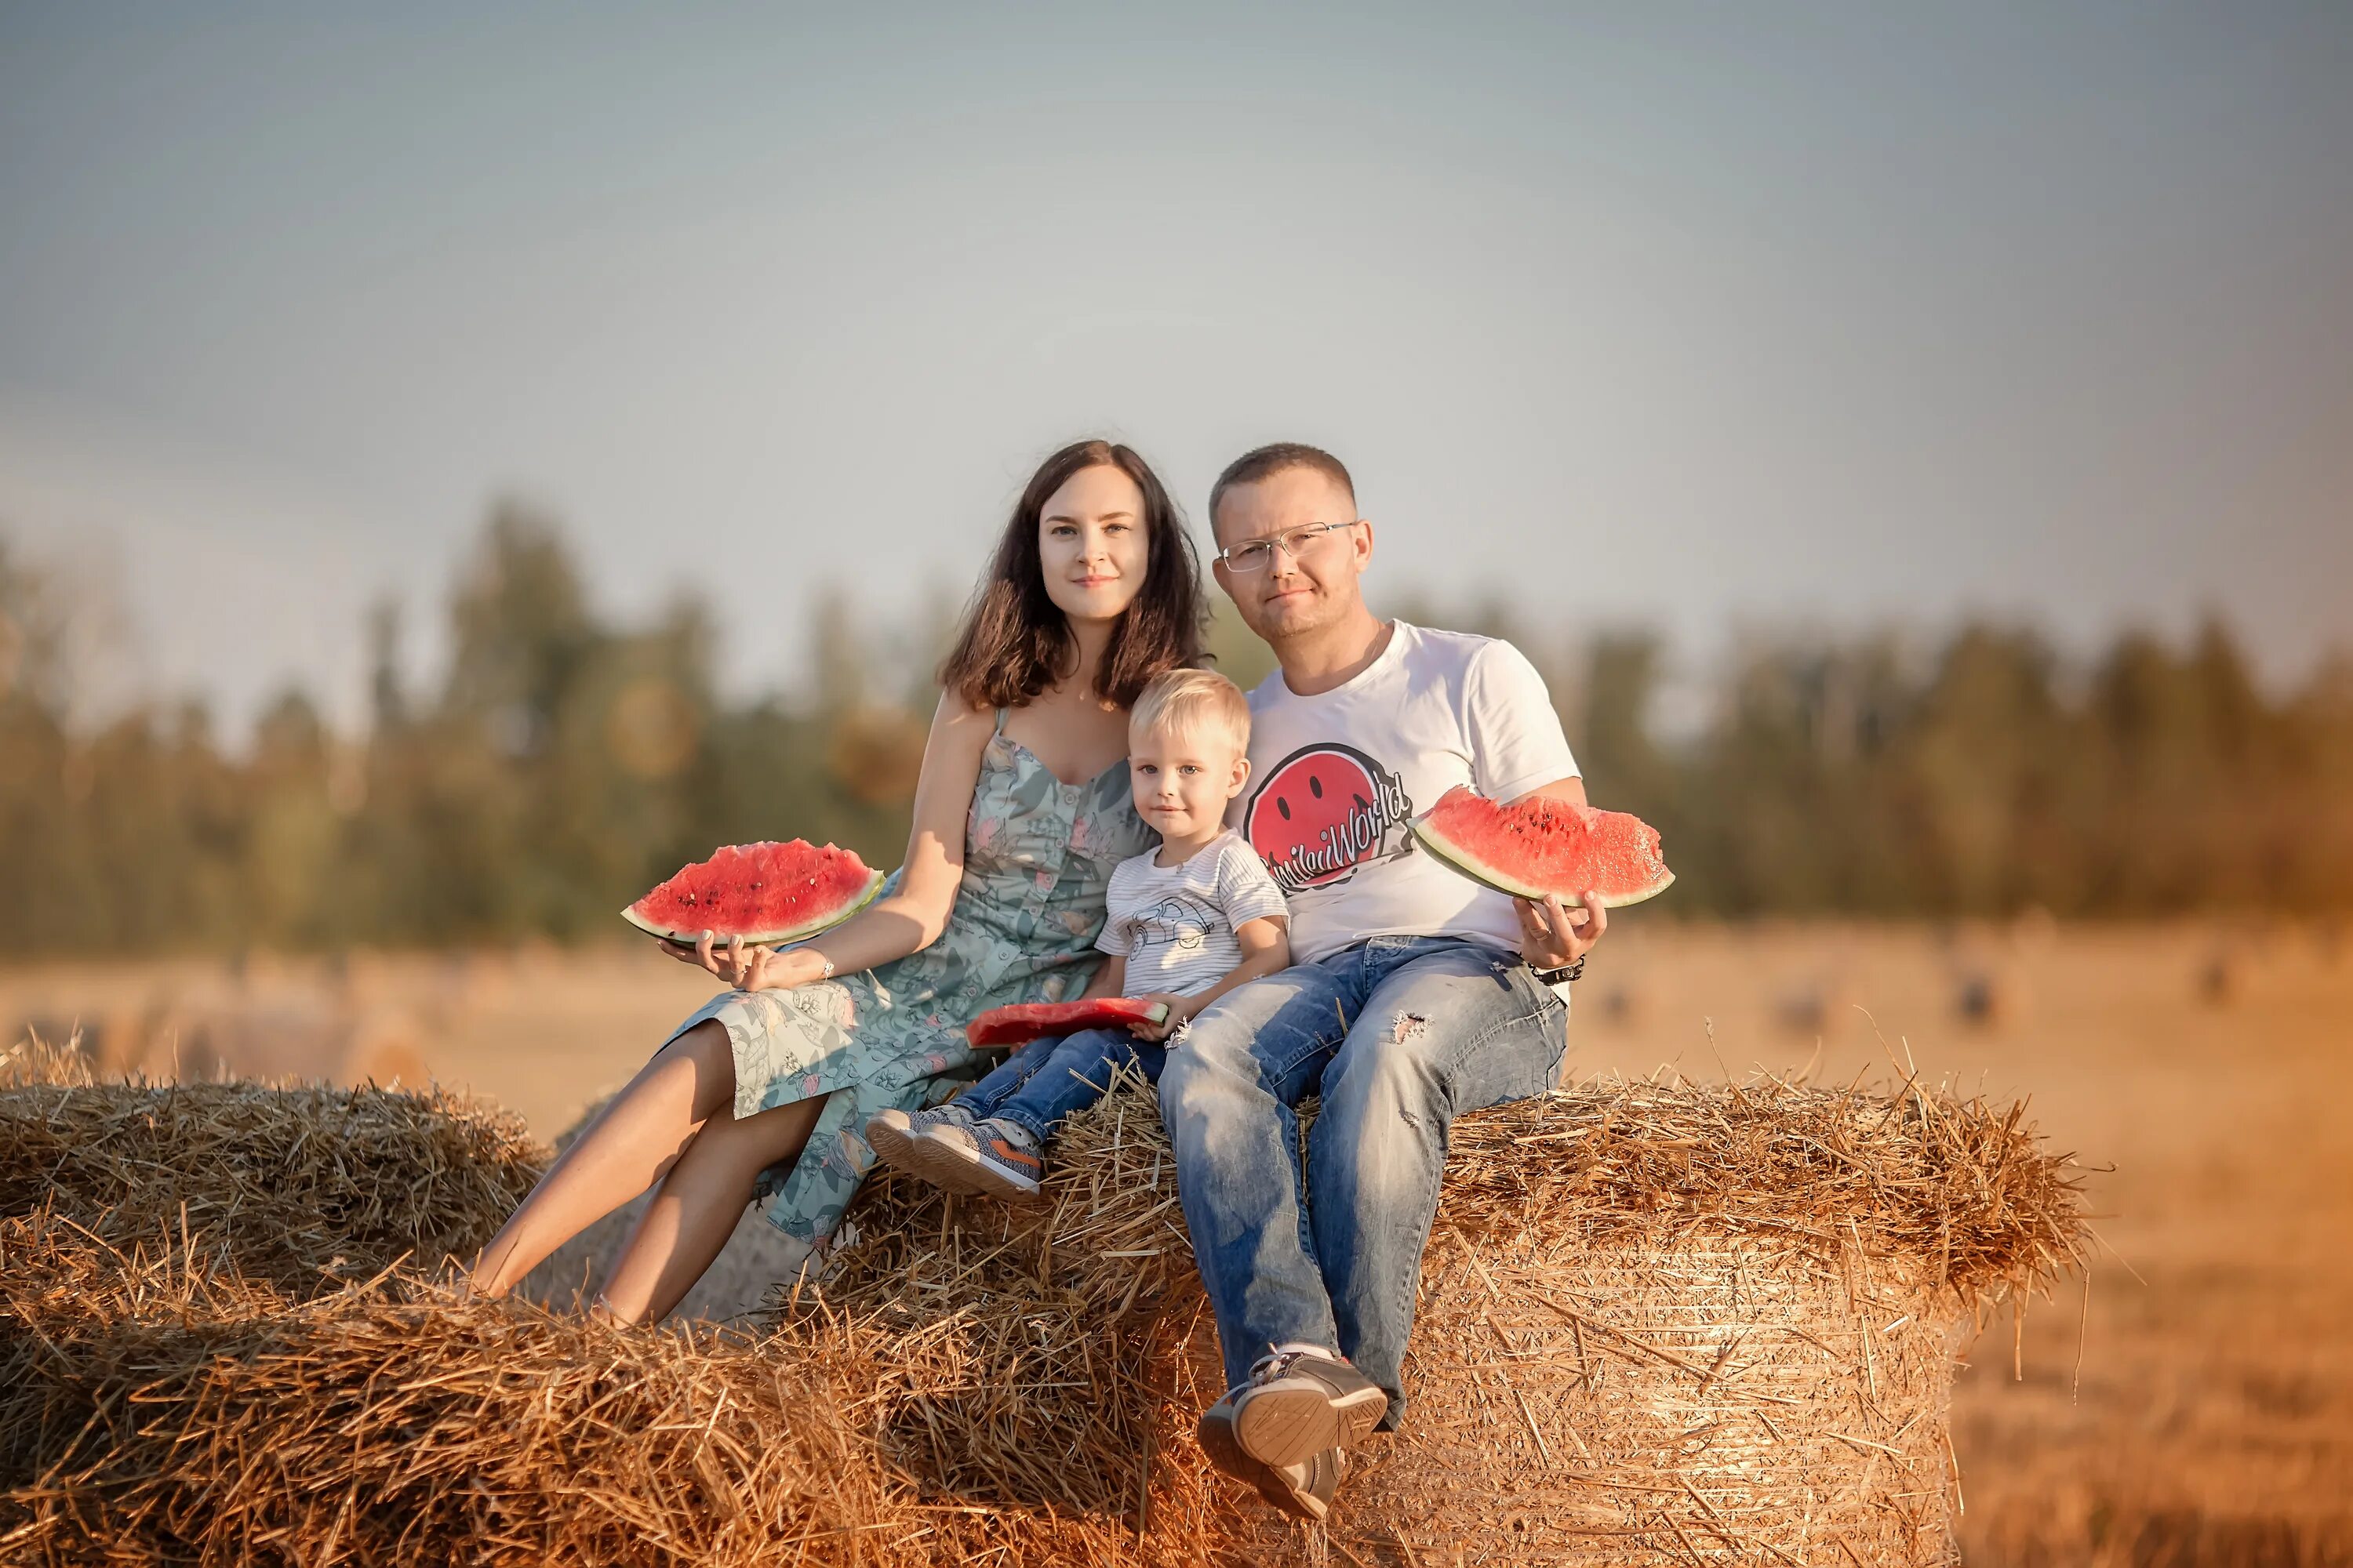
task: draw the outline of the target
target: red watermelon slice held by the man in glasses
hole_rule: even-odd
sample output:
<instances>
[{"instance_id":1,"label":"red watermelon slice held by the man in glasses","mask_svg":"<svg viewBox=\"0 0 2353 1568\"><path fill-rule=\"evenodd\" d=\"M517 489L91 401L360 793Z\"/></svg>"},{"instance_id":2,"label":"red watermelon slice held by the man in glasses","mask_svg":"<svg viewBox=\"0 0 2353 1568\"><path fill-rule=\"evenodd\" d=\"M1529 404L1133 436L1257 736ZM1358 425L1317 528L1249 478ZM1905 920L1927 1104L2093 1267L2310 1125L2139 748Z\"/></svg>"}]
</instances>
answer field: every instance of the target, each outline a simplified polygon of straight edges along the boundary
<instances>
[{"instance_id":1,"label":"red watermelon slice held by the man in glasses","mask_svg":"<svg viewBox=\"0 0 2353 1568\"><path fill-rule=\"evenodd\" d=\"M1409 827L1449 870L1515 898L1558 893L1579 905L1591 891L1617 910L1675 882L1659 856L1659 830L1626 811L1541 795L1506 806L1454 785Z\"/></svg>"}]
</instances>

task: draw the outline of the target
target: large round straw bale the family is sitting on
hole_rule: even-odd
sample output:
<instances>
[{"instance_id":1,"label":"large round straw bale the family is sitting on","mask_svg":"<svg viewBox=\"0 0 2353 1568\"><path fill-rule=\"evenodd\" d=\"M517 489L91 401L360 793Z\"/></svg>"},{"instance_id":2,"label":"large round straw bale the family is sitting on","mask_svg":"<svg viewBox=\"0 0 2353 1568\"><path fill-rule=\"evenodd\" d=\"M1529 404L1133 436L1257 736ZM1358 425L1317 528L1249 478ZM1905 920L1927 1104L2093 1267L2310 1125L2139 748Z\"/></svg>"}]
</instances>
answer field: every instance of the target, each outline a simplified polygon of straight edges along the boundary
<instances>
[{"instance_id":1,"label":"large round straw bale the family is sitting on","mask_svg":"<svg viewBox=\"0 0 2353 1568\"><path fill-rule=\"evenodd\" d=\"M1151 1474L1179 1530L1254 1563L1308 1552L1193 1443L1217 1347L1148 1088L1064 1128L1033 1208L882 1178L859 1220L826 1309L946 1363L906 1373L896 1462L1139 1528ZM1586 1084L1464 1117L1405 1427L1360 1450L1332 1540L1362 1561L1948 1563L1972 1309L2078 1244L2066 1161L2014 1112L1918 1086Z\"/></svg>"}]
</instances>

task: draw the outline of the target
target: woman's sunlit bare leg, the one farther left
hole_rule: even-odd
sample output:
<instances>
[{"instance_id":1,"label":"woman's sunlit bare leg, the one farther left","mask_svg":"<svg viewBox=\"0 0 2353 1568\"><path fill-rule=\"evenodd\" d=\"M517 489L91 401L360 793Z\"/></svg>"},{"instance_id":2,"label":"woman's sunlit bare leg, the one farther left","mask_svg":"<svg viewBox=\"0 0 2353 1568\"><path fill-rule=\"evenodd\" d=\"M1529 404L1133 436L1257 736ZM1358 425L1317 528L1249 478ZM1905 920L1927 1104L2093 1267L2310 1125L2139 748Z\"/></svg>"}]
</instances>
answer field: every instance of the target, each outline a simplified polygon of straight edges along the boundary
<instances>
[{"instance_id":1,"label":"woman's sunlit bare leg, the one farther left","mask_svg":"<svg viewBox=\"0 0 2353 1568\"><path fill-rule=\"evenodd\" d=\"M704 1020L654 1053L598 1112L473 1260L473 1288L506 1295L548 1253L652 1187L734 1103L734 1048ZM732 1215L729 1215L732 1218Z\"/></svg>"}]
</instances>

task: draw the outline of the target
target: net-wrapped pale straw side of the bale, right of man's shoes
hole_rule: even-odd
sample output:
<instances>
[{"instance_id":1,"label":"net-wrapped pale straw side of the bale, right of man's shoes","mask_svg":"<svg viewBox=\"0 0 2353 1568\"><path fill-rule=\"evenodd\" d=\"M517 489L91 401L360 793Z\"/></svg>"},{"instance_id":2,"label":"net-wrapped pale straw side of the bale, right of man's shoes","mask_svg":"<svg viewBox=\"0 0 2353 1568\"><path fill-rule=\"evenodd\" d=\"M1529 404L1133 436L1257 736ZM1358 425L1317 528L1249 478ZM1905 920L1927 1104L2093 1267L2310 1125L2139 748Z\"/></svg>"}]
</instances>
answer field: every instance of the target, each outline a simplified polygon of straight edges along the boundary
<instances>
[{"instance_id":1,"label":"net-wrapped pale straw side of the bale, right of man's shoes","mask_svg":"<svg viewBox=\"0 0 2353 1568\"><path fill-rule=\"evenodd\" d=\"M1922 1269L1852 1281L1694 1229L1522 1232L1424 1265L1407 1425L1367 1448L1344 1535L1522 1563L1944 1563L1960 1324Z\"/></svg>"}]
</instances>

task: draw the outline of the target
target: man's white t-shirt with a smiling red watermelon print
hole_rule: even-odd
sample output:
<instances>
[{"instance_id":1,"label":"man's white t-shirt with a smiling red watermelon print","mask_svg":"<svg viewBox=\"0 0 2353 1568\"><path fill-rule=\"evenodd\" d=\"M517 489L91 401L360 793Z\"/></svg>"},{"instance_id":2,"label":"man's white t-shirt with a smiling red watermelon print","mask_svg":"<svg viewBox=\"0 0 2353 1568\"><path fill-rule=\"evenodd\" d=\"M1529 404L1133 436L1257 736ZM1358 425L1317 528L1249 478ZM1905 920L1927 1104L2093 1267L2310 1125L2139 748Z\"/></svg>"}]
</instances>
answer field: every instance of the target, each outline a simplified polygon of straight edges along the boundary
<instances>
[{"instance_id":1,"label":"man's white t-shirt with a smiling red watermelon print","mask_svg":"<svg viewBox=\"0 0 2353 1568\"><path fill-rule=\"evenodd\" d=\"M1544 677L1508 642L1393 623L1348 684L1249 693L1249 785L1226 823L1292 912L1292 961L1367 936L1461 936L1518 952L1504 893L1447 870L1407 818L1454 785L1513 799L1577 773Z\"/></svg>"}]
</instances>

